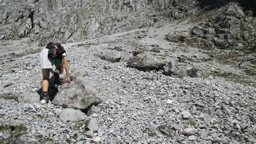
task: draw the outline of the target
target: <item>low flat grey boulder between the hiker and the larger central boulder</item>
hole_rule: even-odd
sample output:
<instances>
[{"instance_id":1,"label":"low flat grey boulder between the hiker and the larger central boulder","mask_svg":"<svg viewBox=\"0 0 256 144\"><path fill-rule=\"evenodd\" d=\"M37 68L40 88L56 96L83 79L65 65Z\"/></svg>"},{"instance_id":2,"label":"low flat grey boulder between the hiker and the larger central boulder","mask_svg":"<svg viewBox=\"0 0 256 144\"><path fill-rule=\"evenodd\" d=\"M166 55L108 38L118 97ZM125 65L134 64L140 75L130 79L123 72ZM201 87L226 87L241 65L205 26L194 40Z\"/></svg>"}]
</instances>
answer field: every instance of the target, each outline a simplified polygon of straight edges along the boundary
<instances>
[{"instance_id":1,"label":"low flat grey boulder between the hiker and the larger central boulder","mask_svg":"<svg viewBox=\"0 0 256 144\"><path fill-rule=\"evenodd\" d=\"M102 60L110 61L110 62L119 62L121 60L121 54L115 51L106 51L106 52L100 52L100 54L97 54L98 57L100 57Z\"/></svg>"}]
</instances>

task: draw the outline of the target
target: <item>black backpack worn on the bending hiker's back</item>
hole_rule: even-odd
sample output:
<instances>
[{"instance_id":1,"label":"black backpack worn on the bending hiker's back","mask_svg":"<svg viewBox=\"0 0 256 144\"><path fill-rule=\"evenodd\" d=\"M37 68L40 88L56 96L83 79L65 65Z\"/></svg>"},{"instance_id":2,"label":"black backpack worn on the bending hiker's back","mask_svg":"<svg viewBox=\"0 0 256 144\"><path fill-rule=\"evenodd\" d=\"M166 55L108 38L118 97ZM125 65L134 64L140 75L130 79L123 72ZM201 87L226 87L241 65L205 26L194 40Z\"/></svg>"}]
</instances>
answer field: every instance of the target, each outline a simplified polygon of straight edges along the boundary
<instances>
[{"instance_id":1,"label":"black backpack worn on the bending hiker's back","mask_svg":"<svg viewBox=\"0 0 256 144\"><path fill-rule=\"evenodd\" d=\"M62 54L66 53L66 50L64 50L63 46L61 46L58 43L49 43L47 44L46 48L49 49L48 58L51 60L53 59L61 60Z\"/></svg>"}]
</instances>

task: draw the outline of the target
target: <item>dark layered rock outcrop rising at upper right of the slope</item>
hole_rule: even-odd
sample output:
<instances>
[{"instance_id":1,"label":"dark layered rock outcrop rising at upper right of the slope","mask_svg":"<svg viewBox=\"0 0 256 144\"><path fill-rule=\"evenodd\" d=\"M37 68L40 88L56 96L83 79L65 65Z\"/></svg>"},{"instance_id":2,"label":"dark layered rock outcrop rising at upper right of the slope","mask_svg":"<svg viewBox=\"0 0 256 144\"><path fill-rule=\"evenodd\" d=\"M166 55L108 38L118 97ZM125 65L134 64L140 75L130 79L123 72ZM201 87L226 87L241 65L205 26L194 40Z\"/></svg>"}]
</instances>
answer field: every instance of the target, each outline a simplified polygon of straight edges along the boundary
<instances>
[{"instance_id":1,"label":"dark layered rock outcrop rising at upper right of the slope","mask_svg":"<svg viewBox=\"0 0 256 144\"><path fill-rule=\"evenodd\" d=\"M256 50L256 18L237 3L222 7L213 16L191 29L188 43L212 48Z\"/></svg>"}]
</instances>

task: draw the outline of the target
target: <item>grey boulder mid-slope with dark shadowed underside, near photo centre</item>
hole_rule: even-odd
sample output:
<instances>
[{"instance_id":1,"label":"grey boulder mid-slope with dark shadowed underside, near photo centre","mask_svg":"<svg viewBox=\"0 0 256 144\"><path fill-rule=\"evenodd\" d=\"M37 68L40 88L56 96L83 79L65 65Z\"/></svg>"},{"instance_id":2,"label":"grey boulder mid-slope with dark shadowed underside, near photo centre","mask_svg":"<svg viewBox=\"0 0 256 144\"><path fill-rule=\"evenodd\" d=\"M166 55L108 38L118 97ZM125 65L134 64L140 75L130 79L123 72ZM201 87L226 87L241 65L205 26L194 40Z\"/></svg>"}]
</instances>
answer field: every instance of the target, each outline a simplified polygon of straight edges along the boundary
<instances>
[{"instance_id":1,"label":"grey boulder mid-slope with dark shadowed underside, near photo centre","mask_svg":"<svg viewBox=\"0 0 256 144\"><path fill-rule=\"evenodd\" d=\"M137 54L127 61L127 66L146 71L158 68L155 58L149 54Z\"/></svg>"}]
</instances>

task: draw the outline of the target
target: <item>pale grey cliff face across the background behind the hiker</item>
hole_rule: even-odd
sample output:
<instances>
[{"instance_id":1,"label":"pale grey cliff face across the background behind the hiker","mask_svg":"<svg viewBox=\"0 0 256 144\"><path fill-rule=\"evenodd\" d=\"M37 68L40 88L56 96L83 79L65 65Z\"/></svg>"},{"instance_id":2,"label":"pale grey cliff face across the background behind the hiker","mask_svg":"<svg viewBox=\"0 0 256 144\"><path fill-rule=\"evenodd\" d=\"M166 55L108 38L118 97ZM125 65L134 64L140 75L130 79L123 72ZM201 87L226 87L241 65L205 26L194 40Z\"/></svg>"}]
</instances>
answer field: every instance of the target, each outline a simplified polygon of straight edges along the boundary
<instances>
[{"instance_id":1,"label":"pale grey cliff face across the background behind the hiker","mask_svg":"<svg viewBox=\"0 0 256 144\"><path fill-rule=\"evenodd\" d=\"M194 14L197 1L1 1L0 39L68 43Z\"/></svg>"}]
</instances>

